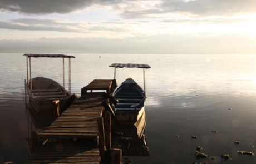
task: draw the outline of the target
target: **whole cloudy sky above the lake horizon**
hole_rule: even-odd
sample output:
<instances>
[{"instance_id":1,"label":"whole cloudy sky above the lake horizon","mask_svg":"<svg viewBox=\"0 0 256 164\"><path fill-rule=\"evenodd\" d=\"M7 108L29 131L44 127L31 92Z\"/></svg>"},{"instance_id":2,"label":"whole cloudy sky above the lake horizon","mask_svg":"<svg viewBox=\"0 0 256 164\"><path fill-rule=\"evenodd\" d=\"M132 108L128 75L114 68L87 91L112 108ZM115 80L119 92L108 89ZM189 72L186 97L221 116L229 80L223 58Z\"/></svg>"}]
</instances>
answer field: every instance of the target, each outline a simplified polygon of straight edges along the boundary
<instances>
[{"instance_id":1,"label":"whole cloudy sky above the lake horizon","mask_svg":"<svg viewBox=\"0 0 256 164\"><path fill-rule=\"evenodd\" d=\"M0 0L0 52L256 54L256 1Z\"/></svg>"}]
</instances>

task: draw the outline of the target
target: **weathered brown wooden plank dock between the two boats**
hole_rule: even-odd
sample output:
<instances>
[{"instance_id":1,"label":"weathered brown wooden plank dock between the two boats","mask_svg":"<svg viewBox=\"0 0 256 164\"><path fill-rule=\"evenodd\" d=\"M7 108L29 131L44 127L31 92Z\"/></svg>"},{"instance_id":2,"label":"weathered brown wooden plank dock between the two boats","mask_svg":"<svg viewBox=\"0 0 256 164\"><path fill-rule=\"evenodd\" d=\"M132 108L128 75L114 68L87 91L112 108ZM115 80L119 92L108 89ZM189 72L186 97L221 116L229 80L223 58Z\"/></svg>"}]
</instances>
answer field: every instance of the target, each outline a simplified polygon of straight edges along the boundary
<instances>
[{"instance_id":1,"label":"weathered brown wooden plank dock between the two boats","mask_svg":"<svg viewBox=\"0 0 256 164\"><path fill-rule=\"evenodd\" d=\"M32 152L26 163L95 164L110 163L111 158L111 163L120 163L121 150L111 150L111 116L101 105L102 92L87 93L87 90L111 92L111 84L111 80L91 82L82 88L75 103L62 113L57 111L59 116L49 127L41 133L33 131ZM106 160L107 149L112 152L110 160Z\"/></svg>"}]
</instances>

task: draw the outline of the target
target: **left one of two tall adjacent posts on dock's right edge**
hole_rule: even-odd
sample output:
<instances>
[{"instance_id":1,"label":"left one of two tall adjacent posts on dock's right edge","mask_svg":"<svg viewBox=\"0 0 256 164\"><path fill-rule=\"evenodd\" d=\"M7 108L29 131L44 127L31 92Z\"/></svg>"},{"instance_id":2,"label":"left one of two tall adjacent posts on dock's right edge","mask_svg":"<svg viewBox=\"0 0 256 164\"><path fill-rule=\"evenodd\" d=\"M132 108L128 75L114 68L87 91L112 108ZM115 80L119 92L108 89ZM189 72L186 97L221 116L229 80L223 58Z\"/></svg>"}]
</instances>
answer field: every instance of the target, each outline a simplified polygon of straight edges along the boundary
<instances>
[{"instance_id":1,"label":"left one of two tall adjacent posts on dock's right edge","mask_svg":"<svg viewBox=\"0 0 256 164\"><path fill-rule=\"evenodd\" d=\"M105 135L104 135L104 125L103 125L103 118L97 118L98 124L98 133L99 133L99 151L101 158L104 158L105 154Z\"/></svg>"}]
</instances>

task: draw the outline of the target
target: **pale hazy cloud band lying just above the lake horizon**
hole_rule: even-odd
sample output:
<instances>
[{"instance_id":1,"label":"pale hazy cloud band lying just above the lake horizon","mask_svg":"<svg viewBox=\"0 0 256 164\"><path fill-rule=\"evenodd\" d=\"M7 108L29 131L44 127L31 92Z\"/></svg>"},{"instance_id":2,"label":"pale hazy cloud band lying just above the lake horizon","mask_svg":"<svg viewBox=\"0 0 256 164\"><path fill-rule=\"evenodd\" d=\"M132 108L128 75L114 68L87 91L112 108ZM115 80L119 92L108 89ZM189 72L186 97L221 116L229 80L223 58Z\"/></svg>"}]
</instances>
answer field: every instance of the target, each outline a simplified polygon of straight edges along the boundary
<instances>
[{"instance_id":1,"label":"pale hazy cloud band lying just above the lake horizon","mask_svg":"<svg viewBox=\"0 0 256 164\"><path fill-rule=\"evenodd\" d=\"M24 53L188 53L254 54L255 36L222 34L199 36L165 34L125 39L41 38L1 40L1 52Z\"/></svg>"}]
</instances>

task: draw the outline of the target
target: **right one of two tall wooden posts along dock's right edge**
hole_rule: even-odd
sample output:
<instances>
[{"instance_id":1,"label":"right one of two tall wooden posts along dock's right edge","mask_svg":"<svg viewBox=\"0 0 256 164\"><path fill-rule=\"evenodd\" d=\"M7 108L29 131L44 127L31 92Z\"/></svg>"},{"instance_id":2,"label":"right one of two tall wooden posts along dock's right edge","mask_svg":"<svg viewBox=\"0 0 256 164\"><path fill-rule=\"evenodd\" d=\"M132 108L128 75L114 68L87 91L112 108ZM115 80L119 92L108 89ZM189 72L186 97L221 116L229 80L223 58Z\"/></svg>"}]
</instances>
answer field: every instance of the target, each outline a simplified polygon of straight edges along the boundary
<instances>
[{"instance_id":1,"label":"right one of two tall wooden posts along dock's right edge","mask_svg":"<svg viewBox=\"0 0 256 164\"><path fill-rule=\"evenodd\" d=\"M105 140L106 149L111 148L111 115L109 111L105 112Z\"/></svg>"}]
</instances>

